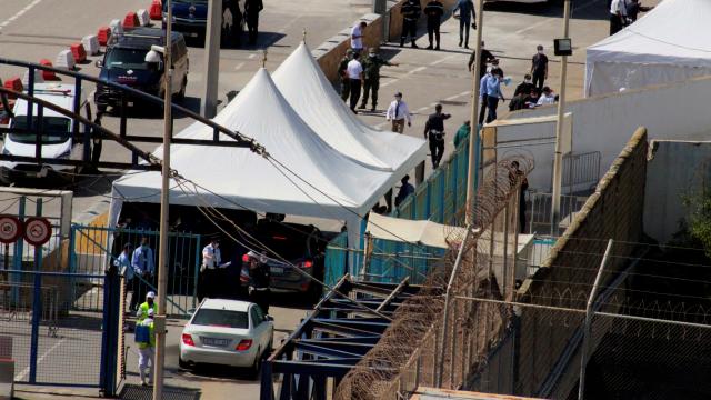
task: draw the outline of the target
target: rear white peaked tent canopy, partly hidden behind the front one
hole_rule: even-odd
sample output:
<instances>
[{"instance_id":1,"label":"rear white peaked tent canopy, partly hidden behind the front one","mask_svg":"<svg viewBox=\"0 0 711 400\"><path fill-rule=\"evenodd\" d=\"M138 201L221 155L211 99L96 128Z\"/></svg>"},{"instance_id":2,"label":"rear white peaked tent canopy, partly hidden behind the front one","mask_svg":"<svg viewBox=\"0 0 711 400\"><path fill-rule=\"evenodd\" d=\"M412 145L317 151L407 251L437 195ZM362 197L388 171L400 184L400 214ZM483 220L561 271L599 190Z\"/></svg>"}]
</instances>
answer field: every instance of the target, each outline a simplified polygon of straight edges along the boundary
<instances>
[{"instance_id":1,"label":"rear white peaked tent canopy, partly hidden behind the front one","mask_svg":"<svg viewBox=\"0 0 711 400\"><path fill-rule=\"evenodd\" d=\"M306 44L301 43L281 63L273 79L309 127L347 157L371 168L394 171L395 181L425 159L423 139L379 131L359 120L336 93Z\"/></svg>"}]
</instances>

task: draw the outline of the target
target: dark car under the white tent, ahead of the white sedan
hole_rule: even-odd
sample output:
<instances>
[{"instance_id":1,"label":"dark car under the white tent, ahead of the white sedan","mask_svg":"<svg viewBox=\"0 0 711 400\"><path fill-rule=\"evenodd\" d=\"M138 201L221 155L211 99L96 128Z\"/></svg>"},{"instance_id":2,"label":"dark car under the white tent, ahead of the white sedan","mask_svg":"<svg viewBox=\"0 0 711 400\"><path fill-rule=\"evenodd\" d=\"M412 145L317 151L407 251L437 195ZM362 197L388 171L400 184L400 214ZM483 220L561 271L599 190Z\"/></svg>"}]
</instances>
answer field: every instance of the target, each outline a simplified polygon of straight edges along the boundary
<instances>
[{"instance_id":1,"label":"dark car under the white tent, ahead of the white sedan","mask_svg":"<svg viewBox=\"0 0 711 400\"><path fill-rule=\"evenodd\" d=\"M262 219L257 224L257 239L289 261L283 262L273 254L268 254L267 264L271 273L272 289L309 293L314 297L321 293L321 286L318 282L293 268L296 266L309 276L323 279L323 260L328 240L318 228ZM247 256L242 259L240 281L243 286L249 283Z\"/></svg>"}]
</instances>

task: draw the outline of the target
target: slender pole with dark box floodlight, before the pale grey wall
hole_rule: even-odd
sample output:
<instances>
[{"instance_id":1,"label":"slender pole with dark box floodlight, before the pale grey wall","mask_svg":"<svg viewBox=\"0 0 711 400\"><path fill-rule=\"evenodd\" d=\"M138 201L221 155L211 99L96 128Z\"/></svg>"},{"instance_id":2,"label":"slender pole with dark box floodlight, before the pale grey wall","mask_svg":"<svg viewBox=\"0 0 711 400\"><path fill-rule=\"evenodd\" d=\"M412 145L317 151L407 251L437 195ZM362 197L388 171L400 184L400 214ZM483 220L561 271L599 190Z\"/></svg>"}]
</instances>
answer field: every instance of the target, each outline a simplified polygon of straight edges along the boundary
<instances>
[{"instance_id":1,"label":"slender pole with dark box floodlight, before the pale grey wall","mask_svg":"<svg viewBox=\"0 0 711 400\"><path fill-rule=\"evenodd\" d=\"M563 39L570 34L570 2L565 0L563 7ZM568 77L568 56L561 56L560 92L558 98L558 121L555 122L555 159L553 160L553 198L551 199L551 234L558 236L558 222L560 221L560 194L563 178L562 133L563 116L565 112L565 87Z\"/></svg>"}]
</instances>

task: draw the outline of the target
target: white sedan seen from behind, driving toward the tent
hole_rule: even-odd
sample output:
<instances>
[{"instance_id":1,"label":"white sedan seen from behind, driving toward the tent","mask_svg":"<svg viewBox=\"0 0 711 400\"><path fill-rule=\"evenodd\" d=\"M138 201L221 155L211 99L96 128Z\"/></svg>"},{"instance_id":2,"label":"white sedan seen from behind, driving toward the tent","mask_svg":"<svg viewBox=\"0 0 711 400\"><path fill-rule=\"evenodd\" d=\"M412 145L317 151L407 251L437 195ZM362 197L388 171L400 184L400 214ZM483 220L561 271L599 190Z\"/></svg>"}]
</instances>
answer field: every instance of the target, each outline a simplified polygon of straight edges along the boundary
<instances>
[{"instance_id":1,"label":"white sedan seen from behind, driving toward the tent","mask_svg":"<svg viewBox=\"0 0 711 400\"><path fill-rule=\"evenodd\" d=\"M250 368L259 372L271 352L274 323L259 306L238 300L204 299L182 330L179 364Z\"/></svg>"}]
</instances>

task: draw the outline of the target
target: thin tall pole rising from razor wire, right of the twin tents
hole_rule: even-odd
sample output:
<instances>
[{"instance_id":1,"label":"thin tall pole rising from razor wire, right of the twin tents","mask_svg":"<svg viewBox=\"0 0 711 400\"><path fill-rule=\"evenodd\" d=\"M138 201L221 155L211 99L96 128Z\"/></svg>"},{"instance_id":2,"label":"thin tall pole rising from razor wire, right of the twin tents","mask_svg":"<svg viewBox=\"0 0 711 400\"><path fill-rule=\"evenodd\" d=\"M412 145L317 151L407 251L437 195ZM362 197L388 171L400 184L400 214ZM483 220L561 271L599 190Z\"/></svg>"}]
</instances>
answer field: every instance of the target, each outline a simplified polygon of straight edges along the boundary
<instances>
[{"instance_id":1,"label":"thin tall pole rising from razor wire, right of the twin tents","mask_svg":"<svg viewBox=\"0 0 711 400\"><path fill-rule=\"evenodd\" d=\"M484 1L479 0L477 4L477 47L474 57L474 70L472 72L472 90L471 90L471 116L469 119L469 169L467 171L467 223L471 224L474 210L474 180L479 169L479 147L477 146L479 138L479 77L481 76L481 40L484 27ZM461 18L461 17L460 17Z\"/></svg>"}]
</instances>

